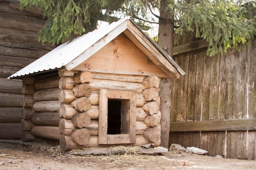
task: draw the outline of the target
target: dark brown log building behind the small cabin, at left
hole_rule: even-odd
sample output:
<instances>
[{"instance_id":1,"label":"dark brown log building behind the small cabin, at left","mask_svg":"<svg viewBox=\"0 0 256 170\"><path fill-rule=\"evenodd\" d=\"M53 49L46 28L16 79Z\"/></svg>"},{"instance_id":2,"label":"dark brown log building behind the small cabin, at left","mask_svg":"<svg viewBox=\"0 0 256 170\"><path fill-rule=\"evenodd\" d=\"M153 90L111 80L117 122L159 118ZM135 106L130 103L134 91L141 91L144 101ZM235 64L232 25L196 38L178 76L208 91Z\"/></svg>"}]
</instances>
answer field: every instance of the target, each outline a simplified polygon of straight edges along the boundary
<instances>
[{"instance_id":1,"label":"dark brown log building behind the small cabin, at left","mask_svg":"<svg viewBox=\"0 0 256 170\"><path fill-rule=\"evenodd\" d=\"M12 2L0 0L0 139L20 139L22 131L22 81L6 78L54 49L37 39L43 12Z\"/></svg>"}]
</instances>

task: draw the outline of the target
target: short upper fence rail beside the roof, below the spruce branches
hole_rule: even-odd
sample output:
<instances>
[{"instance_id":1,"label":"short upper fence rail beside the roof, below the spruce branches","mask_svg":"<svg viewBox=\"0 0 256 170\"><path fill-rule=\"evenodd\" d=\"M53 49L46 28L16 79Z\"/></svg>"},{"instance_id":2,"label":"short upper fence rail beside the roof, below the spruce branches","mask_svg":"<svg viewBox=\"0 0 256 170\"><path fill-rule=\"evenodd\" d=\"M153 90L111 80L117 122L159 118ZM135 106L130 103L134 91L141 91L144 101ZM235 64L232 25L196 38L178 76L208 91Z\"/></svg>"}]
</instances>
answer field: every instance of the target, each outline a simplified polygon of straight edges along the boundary
<instances>
[{"instance_id":1,"label":"short upper fence rail beside the roof, below the spruce branches","mask_svg":"<svg viewBox=\"0 0 256 170\"><path fill-rule=\"evenodd\" d=\"M195 51L198 49L206 48L208 45L209 45L209 42L207 42L206 40L198 40L188 44L175 46L173 47L173 56L186 53L189 51Z\"/></svg>"}]
</instances>

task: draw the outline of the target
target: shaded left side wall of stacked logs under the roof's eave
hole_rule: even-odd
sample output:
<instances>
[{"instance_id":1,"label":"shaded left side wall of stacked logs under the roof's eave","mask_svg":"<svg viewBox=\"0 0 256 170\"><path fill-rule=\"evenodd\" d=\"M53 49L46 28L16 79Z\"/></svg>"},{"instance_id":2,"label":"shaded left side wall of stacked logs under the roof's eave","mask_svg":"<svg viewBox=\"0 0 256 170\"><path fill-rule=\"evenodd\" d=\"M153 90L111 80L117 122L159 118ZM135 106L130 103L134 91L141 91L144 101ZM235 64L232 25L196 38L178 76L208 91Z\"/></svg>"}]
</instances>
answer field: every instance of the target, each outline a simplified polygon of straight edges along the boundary
<instances>
[{"instance_id":1,"label":"shaded left side wall of stacked logs under the roof's eave","mask_svg":"<svg viewBox=\"0 0 256 170\"><path fill-rule=\"evenodd\" d=\"M33 79L32 77L29 78L30 80ZM58 87L58 73L36 77L36 80L32 81L33 86L26 83L26 80L23 79L23 87L26 87L24 98L27 98L23 104L25 113L22 120L27 127L23 129L27 135L24 140L49 139L59 141L61 134L58 130L60 121L58 97L61 90Z\"/></svg>"}]
</instances>

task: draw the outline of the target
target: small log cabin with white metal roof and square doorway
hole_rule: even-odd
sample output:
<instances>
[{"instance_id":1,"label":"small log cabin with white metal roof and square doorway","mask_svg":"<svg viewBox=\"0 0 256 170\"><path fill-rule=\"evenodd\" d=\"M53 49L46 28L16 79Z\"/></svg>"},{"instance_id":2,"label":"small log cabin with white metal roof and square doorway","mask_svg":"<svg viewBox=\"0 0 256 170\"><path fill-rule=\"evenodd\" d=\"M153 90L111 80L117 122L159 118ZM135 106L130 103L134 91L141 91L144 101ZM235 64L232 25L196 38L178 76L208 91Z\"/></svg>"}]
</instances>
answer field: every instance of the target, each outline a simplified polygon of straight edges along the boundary
<instances>
[{"instance_id":1,"label":"small log cabin with white metal roof and square doorway","mask_svg":"<svg viewBox=\"0 0 256 170\"><path fill-rule=\"evenodd\" d=\"M184 71L129 18L58 46L22 79L22 141L62 150L160 144L159 82Z\"/></svg>"}]
</instances>

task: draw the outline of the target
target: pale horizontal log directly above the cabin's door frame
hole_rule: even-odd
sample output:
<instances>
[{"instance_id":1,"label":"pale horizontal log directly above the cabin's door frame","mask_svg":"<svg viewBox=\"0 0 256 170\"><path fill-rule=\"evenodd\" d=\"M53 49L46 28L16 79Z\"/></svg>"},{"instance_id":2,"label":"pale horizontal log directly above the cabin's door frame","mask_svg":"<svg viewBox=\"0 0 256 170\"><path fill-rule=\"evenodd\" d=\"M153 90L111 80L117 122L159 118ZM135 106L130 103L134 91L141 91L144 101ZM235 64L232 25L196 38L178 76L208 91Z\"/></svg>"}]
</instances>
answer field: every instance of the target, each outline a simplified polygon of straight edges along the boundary
<instances>
[{"instance_id":1,"label":"pale horizontal log directly above the cabin's door frame","mask_svg":"<svg viewBox=\"0 0 256 170\"><path fill-rule=\"evenodd\" d=\"M99 89L109 89L117 91L135 91L136 93L142 93L145 89L142 83L132 82L120 82L112 80L93 79L90 83L92 91L99 91Z\"/></svg>"}]
</instances>

